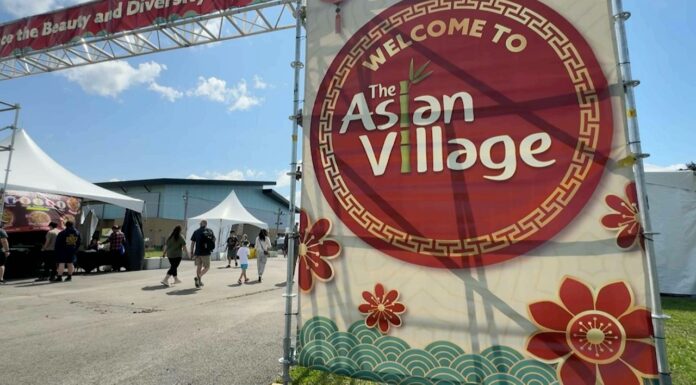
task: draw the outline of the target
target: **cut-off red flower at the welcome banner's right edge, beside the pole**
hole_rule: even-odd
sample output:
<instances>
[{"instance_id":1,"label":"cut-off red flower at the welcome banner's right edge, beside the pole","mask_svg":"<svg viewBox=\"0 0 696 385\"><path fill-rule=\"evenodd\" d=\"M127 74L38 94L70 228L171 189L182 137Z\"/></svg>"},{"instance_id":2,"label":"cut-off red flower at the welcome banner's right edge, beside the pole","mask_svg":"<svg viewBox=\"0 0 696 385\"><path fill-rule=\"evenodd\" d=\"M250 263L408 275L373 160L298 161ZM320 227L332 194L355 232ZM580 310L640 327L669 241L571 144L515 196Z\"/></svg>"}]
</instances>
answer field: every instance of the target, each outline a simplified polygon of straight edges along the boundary
<instances>
[{"instance_id":1,"label":"cut-off red flower at the welcome banner's right edge, beside the pole","mask_svg":"<svg viewBox=\"0 0 696 385\"><path fill-rule=\"evenodd\" d=\"M618 230L616 244L622 249L628 249L640 242L640 246L645 248L643 240L643 228L640 224L638 214L638 193L636 184L629 183L626 186L626 197L621 198L617 195L608 195L606 202L614 212L602 218L604 227L610 230Z\"/></svg>"}]
</instances>

